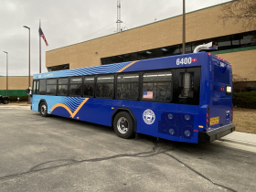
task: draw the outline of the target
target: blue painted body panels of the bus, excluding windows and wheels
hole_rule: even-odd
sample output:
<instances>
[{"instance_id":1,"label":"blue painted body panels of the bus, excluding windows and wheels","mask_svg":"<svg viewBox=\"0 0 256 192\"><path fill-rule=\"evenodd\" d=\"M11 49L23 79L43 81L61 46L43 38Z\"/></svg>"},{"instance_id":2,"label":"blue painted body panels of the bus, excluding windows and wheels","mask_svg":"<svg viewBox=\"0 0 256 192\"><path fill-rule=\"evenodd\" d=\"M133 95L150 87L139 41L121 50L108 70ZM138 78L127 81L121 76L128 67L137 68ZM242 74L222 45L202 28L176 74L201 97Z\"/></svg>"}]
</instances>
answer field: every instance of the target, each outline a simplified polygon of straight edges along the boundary
<instances>
[{"instance_id":1,"label":"blue painted body panels of the bus, excluding windows and wheels","mask_svg":"<svg viewBox=\"0 0 256 192\"><path fill-rule=\"evenodd\" d=\"M185 59L188 57L197 61L192 61L191 64L177 65L176 59ZM124 62L91 68L35 74L34 80L116 73L131 63ZM211 130L230 123L232 94L227 95L225 91L221 91L221 88L227 84L232 86L232 71L227 61L201 52L160 59L139 60L122 71L133 72L197 66L201 67L199 105L34 94L32 96L32 110L38 112L39 101L45 100L48 104L48 113L80 121L112 126L113 112L118 108L127 108L133 112L133 116L136 119L137 133L144 133L172 141L197 143L198 131L207 132L206 119L208 108L210 109L209 119L219 117L219 123L210 126ZM222 80L219 77L222 74L229 77L224 77ZM82 104L83 101L85 101L84 104ZM67 107L64 108L64 105ZM79 107L80 110L76 112ZM54 110L52 111L52 109ZM154 117L153 114L155 115ZM198 128L198 126L201 126L201 128Z\"/></svg>"}]
</instances>

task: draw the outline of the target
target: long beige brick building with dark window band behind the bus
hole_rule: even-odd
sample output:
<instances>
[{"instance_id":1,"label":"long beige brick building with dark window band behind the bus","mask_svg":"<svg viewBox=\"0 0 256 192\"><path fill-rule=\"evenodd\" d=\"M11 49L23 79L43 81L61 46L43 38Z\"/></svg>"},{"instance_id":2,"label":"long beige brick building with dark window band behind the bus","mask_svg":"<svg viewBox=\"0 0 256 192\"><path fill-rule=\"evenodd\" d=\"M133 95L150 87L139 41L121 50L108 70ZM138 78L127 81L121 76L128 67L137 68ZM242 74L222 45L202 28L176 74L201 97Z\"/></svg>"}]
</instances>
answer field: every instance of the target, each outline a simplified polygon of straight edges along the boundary
<instances>
[{"instance_id":1,"label":"long beige brick building with dark window band behind the bus","mask_svg":"<svg viewBox=\"0 0 256 192\"><path fill-rule=\"evenodd\" d=\"M233 74L256 80L256 28L244 28L219 20L216 5L186 15L187 53L202 43L213 41L219 50L213 54L232 64ZM142 27L105 37L57 48L46 52L48 70L76 69L137 59L150 59L180 54L182 16L174 16ZM159 55L159 53L161 54ZM167 54L164 52L168 52ZM148 55L150 53L151 55ZM0 94L5 90L5 77L0 77ZM10 77L9 90L26 90L26 77ZM3 93L2 93L3 94Z\"/></svg>"}]
</instances>

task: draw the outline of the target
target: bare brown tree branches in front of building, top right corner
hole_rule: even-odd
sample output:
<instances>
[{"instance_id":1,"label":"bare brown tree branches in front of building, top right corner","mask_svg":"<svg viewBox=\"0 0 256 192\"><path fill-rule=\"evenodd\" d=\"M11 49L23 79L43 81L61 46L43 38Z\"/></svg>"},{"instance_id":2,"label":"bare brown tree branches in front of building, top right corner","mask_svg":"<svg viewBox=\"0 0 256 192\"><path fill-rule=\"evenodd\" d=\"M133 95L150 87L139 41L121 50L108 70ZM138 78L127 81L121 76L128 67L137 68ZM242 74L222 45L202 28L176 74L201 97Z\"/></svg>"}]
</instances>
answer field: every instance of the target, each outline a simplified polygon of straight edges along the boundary
<instances>
[{"instance_id":1,"label":"bare brown tree branches in front of building, top right corner","mask_svg":"<svg viewBox=\"0 0 256 192\"><path fill-rule=\"evenodd\" d=\"M223 24L230 20L233 24L241 23L248 29L256 28L256 0L233 0L220 6L219 19Z\"/></svg>"}]
</instances>

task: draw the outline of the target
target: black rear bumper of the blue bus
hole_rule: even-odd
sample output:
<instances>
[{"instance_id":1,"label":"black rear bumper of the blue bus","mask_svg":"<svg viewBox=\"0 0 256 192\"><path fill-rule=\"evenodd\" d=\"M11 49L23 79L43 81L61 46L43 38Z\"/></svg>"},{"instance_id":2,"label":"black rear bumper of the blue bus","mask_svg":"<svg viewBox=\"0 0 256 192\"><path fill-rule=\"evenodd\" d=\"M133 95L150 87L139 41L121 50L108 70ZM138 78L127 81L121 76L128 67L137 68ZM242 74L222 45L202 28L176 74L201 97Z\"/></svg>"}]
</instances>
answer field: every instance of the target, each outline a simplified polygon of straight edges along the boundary
<instances>
[{"instance_id":1,"label":"black rear bumper of the blue bus","mask_svg":"<svg viewBox=\"0 0 256 192\"><path fill-rule=\"evenodd\" d=\"M235 131L235 124L230 123L208 132L198 132L198 143L213 142Z\"/></svg>"}]
</instances>

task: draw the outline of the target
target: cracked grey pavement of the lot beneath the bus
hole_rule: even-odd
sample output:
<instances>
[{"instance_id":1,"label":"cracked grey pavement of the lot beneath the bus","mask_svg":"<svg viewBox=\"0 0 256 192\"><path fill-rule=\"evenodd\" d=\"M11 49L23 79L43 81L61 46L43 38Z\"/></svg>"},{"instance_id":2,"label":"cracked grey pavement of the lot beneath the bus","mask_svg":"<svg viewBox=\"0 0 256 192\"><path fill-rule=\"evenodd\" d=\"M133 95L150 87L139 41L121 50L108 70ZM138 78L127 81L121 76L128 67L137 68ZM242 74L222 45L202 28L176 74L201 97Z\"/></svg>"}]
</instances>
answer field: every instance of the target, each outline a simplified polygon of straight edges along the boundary
<instances>
[{"instance_id":1,"label":"cracked grey pavement of the lot beneath the bus","mask_svg":"<svg viewBox=\"0 0 256 192\"><path fill-rule=\"evenodd\" d=\"M99 117L100 118L100 117ZM256 154L0 107L0 191L255 191Z\"/></svg>"}]
</instances>

